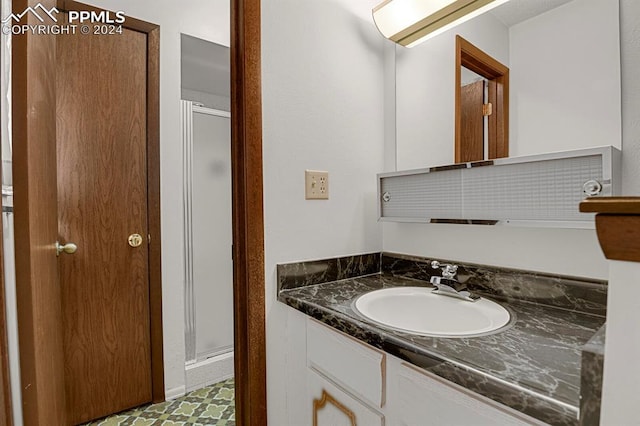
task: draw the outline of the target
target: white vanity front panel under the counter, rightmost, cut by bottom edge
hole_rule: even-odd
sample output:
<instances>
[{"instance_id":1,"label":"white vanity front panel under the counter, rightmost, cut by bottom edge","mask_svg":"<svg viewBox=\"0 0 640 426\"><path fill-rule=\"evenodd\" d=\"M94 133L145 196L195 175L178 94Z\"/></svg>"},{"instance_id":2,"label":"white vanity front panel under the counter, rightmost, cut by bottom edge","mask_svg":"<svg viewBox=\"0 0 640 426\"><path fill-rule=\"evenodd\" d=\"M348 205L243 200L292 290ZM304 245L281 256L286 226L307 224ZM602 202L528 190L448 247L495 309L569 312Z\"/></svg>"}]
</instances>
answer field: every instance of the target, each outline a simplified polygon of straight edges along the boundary
<instances>
[{"instance_id":1,"label":"white vanity front panel under the counter, rightmost, cut by bottom edge","mask_svg":"<svg viewBox=\"0 0 640 426\"><path fill-rule=\"evenodd\" d=\"M453 383L402 364L398 371L400 424L524 426L543 423Z\"/></svg>"}]
</instances>

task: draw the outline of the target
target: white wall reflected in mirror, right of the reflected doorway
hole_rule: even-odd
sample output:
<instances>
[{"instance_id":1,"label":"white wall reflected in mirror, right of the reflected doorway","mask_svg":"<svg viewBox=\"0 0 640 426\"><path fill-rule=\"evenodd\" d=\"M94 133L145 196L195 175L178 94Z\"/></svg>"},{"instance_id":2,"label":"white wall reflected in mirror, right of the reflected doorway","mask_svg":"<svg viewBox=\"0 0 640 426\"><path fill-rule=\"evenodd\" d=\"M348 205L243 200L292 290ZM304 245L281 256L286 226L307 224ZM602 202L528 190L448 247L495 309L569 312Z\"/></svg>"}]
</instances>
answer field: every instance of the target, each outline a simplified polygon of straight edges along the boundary
<instances>
[{"instance_id":1,"label":"white wall reflected in mirror, right of the reflected doorway","mask_svg":"<svg viewBox=\"0 0 640 426\"><path fill-rule=\"evenodd\" d=\"M509 154L622 142L618 0L574 0L509 29Z\"/></svg>"}]
</instances>

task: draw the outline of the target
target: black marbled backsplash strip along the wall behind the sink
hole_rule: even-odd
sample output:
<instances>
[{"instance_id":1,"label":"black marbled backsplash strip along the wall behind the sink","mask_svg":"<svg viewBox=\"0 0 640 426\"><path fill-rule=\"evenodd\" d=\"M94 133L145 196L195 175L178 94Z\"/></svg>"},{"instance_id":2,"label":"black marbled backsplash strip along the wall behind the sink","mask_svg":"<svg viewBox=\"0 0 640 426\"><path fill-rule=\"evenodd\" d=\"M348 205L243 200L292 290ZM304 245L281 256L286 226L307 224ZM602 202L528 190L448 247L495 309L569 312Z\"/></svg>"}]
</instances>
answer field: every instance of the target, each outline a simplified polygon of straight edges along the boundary
<instances>
[{"instance_id":1,"label":"black marbled backsplash strip along the wall behind the sink","mask_svg":"<svg viewBox=\"0 0 640 426\"><path fill-rule=\"evenodd\" d=\"M456 260L395 253L367 253L278 265L278 291L372 274L429 281L440 275L431 261L458 265L456 278L469 290L496 299L518 299L570 311L606 316L607 282Z\"/></svg>"}]
</instances>

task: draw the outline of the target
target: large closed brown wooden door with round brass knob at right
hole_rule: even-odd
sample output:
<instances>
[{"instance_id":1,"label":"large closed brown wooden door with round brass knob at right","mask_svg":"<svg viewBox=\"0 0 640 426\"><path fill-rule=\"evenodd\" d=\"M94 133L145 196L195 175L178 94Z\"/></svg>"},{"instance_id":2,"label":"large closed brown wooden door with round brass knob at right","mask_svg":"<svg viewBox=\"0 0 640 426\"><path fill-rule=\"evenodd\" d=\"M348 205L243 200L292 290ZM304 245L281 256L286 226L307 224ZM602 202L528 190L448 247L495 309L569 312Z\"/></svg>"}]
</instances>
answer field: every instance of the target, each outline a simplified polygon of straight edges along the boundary
<instances>
[{"instance_id":1,"label":"large closed brown wooden door with round brass knob at right","mask_svg":"<svg viewBox=\"0 0 640 426\"><path fill-rule=\"evenodd\" d=\"M152 399L147 36L123 31L57 39L59 240L78 246L58 265L73 424Z\"/></svg>"}]
</instances>

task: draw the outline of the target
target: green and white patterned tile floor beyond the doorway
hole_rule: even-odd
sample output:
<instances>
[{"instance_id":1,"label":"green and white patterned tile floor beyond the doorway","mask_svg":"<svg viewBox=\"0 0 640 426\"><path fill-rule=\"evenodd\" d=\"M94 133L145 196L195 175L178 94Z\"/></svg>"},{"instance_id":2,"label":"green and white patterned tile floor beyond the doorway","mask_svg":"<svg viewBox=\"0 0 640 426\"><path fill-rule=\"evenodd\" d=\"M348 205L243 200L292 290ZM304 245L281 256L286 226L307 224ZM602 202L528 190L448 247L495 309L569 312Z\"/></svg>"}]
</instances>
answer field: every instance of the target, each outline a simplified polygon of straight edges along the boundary
<instances>
[{"instance_id":1,"label":"green and white patterned tile floor beyond the doorway","mask_svg":"<svg viewBox=\"0 0 640 426\"><path fill-rule=\"evenodd\" d=\"M233 379L198 389L182 398L134 408L86 426L235 426Z\"/></svg>"}]
</instances>

